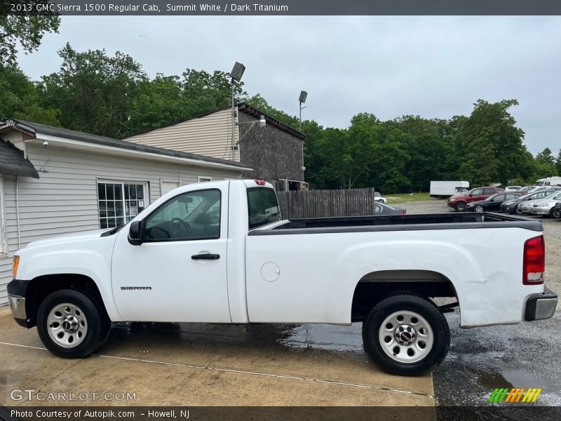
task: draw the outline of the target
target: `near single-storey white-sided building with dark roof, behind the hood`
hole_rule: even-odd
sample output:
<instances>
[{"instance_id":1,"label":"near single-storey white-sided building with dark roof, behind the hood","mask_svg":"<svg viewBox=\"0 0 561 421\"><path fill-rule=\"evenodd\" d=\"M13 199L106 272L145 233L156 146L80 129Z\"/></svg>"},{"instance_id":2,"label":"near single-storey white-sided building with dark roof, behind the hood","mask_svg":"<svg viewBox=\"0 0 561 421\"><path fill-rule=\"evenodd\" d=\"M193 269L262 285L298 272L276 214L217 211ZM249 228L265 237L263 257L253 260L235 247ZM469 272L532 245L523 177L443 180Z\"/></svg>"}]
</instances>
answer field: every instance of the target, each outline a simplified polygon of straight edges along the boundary
<instances>
[{"instance_id":1,"label":"near single-storey white-sided building with dark roof, behind the hood","mask_svg":"<svg viewBox=\"0 0 561 421\"><path fill-rule=\"evenodd\" d=\"M208 156L0 121L0 305L13 255L27 243L116 227L175 187L248 171Z\"/></svg>"}]
</instances>

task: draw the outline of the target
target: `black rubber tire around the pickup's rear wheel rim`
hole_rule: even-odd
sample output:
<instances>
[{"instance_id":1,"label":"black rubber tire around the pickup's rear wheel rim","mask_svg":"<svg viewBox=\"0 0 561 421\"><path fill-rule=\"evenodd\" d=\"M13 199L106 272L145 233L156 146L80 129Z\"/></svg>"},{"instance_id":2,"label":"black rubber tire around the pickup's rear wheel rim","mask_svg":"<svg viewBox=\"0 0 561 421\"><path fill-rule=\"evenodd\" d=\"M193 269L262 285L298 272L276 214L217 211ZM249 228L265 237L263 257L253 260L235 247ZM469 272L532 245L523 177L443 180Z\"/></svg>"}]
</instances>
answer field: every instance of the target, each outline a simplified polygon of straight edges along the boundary
<instances>
[{"instance_id":1,"label":"black rubber tire around the pickup's rear wheel rim","mask_svg":"<svg viewBox=\"0 0 561 421\"><path fill-rule=\"evenodd\" d=\"M432 345L428 349L421 349L421 354L425 353L419 361L414 361L411 363L398 361L398 353L394 352L393 357L386 354L384 351L381 340L379 339L381 333L382 323L388 318L393 316L393 314L398 314L399 312L409 312L417 314L424 318L431 328L432 334ZM411 320L417 319L414 316ZM422 323L417 319L418 323ZM405 322L404 322L405 323ZM384 328L388 328L387 323ZM393 329L392 326L390 329ZM398 335L398 326L395 326L395 333ZM403 330L402 330L403 331ZM413 333L415 330L412 330ZM386 338L391 338L392 342L395 342L396 347L400 347L393 338L394 330L388 330ZM404 351L406 353L414 352L414 349L420 349L423 345L421 342L423 338L420 335L421 330L417 333L417 339L414 340L414 345L407 347L407 345L401 347L401 349L407 349ZM404 332L405 333L405 332ZM414 336L414 335L413 335ZM384 338L384 342L386 342ZM388 342L388 346L391 346L392 342ZM423 342L424 343L424 342ZM450 329L448 328L448 323L442 312L434 305L433 302L422 298L419 295L412 294L394 294L390 295L384 300L381 300L374 305L370 310L370 313L366 316L363 322L363 345L365 352L370 356L370 358L377 363L377 365L386 373L393 375L422 375L433 370L440 364L440 362L445 358L448 348L450 347ZM426 346L426 345L425 345ZM424 348L424 347L423 347ZM403 354L405 356L405 354Z\"/></svg>"}]
</instances>

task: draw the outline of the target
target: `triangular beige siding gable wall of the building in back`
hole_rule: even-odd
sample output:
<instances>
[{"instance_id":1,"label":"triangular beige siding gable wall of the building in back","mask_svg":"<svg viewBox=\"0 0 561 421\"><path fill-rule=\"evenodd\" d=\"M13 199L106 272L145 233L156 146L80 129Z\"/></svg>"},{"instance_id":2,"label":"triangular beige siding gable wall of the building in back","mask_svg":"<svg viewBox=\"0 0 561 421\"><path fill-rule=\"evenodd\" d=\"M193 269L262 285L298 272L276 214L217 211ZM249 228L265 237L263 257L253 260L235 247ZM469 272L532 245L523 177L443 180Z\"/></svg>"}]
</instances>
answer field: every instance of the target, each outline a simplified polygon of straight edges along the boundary
<instances>
[{"instance_id":1,"label":"triangular beige siding gable wall of the building in back","mask_svg":"<svg viewBox=\"0 0 561 421\"><path fill-rule=\"evenodd\" d=\"M231 161L231 115L231 109L222 109L170 126L155 128L123 140ZM234 143L238 141L238 134L236 126L234 127ZM239 162L239 151L234 152L234 161Z\"/></svg>"}]
</instances>

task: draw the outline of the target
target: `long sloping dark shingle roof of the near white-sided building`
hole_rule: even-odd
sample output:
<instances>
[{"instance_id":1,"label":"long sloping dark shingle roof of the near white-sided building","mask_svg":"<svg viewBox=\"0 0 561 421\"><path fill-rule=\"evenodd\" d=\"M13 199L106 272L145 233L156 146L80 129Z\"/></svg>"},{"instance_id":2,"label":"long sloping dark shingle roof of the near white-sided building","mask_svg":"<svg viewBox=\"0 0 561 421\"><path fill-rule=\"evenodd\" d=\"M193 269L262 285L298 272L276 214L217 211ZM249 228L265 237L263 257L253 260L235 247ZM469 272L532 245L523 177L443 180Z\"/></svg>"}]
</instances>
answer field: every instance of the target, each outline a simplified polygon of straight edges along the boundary
<instances>
[{"instance_id":1,"label":"long sloping dark shingle roof of the near white-sided building","mask_svg":"<svg viewBox=\"0 0 561 421\"><path fill-rule=\"evenodd\" d=\"M83 133L79 131L68 130L66 128L59 128L53 126L45 126L44 124L33 123L31 121L24 121L24 120L4 120L0 121L0 126L6 123L11 123L12 126L16 128L21 128L22 131L25 131L25 128L32 128L35 133L42 133L44 135L52 135L58 136L60 138L67 138L67 139L74 139L74 140L81 140L82 142L93 143L95 145L105 145L111 147L118 147L121 149L129 149L137 152L146 152L149 154L158 154L163 156L173 156L175 158L184 158L184 159L194 159L196 161L204 161L204 162L211 162L211 163L220 163L222 165L233 166L236 168L248 169L245 166L242 166L240 163L235 161L227 161L225 159L217 159L217 158L210 158L209 156L202 156L197 154L189 154L188 152L179 152L174 151L172 149L163 149L161 147L154 147L154 146L147 146L147 145L139 145L137 143L127 142L126 140L118 140L112 138L106 138L104 136L98 135L90 135L89 133Z\"/></svg>"}]
</instances>

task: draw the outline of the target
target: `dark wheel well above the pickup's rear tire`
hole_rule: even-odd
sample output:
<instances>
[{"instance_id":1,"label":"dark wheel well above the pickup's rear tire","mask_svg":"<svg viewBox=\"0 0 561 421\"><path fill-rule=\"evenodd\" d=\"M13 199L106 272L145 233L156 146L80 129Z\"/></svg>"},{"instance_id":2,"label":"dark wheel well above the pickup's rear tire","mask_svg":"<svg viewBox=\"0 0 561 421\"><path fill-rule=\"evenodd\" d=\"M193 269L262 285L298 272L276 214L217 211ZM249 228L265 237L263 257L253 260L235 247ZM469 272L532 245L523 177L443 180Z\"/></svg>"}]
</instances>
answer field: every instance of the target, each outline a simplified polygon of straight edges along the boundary
<instances>
[{"instance_id":1,"label":"dark wheel well above the pickup's rear tire","mask_svg":"<svg viewBox=\"0 0 561 421\"><path fill-rule=\"evenodd\" d=\"M456 297L446 276L428 270L384 270L363 276L356 284L351 320L362 321L370 309L391 293L416 293L426 298Z\"/></svg>"}]
</instances>

